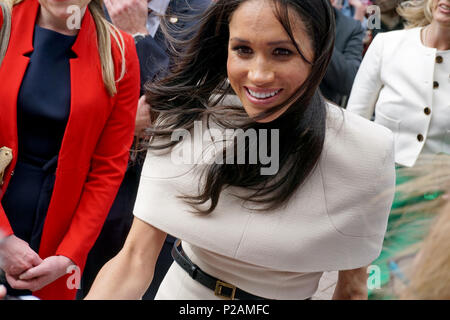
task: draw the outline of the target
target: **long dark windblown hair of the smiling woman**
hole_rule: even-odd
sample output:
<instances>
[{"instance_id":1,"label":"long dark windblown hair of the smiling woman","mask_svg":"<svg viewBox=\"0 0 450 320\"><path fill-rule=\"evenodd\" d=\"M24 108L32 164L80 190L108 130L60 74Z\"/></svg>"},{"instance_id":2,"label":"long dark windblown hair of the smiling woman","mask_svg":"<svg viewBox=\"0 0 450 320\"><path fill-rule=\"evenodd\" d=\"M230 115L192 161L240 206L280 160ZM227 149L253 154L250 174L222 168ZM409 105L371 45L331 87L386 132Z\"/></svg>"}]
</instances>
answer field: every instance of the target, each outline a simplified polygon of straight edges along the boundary
<instances>
[{"instance_id":1,"label":"long dark windblown hair of the smiling woman","mask_svg":"<svg viewBox=\"0 0 450 320\"><path fill-rule=\"evenodd\" d=\"M313 43L314 61L307 61L311 64L311 73L288 101L253 119L243 107L221 103L224 97L234 94L227 81L229 22L233 12L245 1L249 0L218 0L197 17L197 32L192 37L186 41L171 38L176 61L171 73L146 86L146 100L158 117L158 121L147 129L152 142L146 147L151 149L172 148L178 142L162 142L167 140L159 138L169 138L176 129L191 130L194 122L204 116L226 128L279 130L278 173L261 175L263 164L260 162L210 164L200 177L204 183L199 181L198 194L181 196L198 213L211 213L221 192L230 186L250 191L250 195L236 196L257 204L259 210L274 210L286 205L317 165L324 145L326 106L318 86L334 47L335 21L329 0L264 0L273 1L276 17L306 61L302 48L294 41L289 13L294 10L302 18ZM192 34L192 31L187 33ZM289 104L288 110L276 120L269 123L256 121ZM226 148L236 149L236 143ZM248 151L248 143L246 148ZM236 152L234 154L236 157Z\"/></svg>"}]
</instances>

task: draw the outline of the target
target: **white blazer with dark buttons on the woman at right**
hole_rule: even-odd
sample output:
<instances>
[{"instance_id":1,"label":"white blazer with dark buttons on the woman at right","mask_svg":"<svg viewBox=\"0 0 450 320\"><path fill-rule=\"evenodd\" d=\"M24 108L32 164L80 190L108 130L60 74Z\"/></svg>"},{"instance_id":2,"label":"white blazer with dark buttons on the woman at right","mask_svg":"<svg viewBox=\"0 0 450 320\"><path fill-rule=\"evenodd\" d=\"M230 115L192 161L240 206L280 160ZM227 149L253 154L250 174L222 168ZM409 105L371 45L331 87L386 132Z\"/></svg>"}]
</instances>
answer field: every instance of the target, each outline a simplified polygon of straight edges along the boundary
<instances>
[{"instance_id":1,"label":"white blazer with dark buttons on the woman at right","mask_svg":"<svg viewBox=\"0 0 450 320\"><path fill-rule=\"evenodd\" d=\"M394 133L396 163L408 167L421 153L450 152L450 51L425 47L420 30L375 37L347 106L367 119L375 111L375 122Z\"/></svg>"}]
</instances>

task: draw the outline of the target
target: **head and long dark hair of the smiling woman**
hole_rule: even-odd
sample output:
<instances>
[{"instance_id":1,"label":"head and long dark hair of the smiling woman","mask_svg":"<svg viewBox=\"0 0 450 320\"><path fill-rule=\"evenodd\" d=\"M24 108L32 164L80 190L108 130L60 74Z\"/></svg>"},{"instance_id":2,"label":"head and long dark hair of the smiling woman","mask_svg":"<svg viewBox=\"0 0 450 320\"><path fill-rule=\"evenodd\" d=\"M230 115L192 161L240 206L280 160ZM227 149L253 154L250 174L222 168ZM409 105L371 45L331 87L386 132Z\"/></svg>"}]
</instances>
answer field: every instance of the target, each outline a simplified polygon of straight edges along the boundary
<instances>
[{"instance_id":1,"label":"head and long dark hair of the smiling woman","mask_svg":"<svg viewBox=\"0 0 450 320\"><path fill-rule=\"evenodd\" d=\"M211 200L200 212L214 210L225 185L255 188L246 199L275 209L316 166L326 119L317 86L333 50L333 19L332 8L322 1L219 1L203 16L196 37L185 43L189 49L178 57L173 74L148 88L148 103L160 120L149 130L155 137L170 137L173 128L191 130L203 116L233 128L280 130L280 166L290 174L263 177L260 162L232 170L245 168L245 174L213 165L203 191L190 197L194 206ZM221 102L230 94L243 108Z\"/></svg>"}]
</instances>

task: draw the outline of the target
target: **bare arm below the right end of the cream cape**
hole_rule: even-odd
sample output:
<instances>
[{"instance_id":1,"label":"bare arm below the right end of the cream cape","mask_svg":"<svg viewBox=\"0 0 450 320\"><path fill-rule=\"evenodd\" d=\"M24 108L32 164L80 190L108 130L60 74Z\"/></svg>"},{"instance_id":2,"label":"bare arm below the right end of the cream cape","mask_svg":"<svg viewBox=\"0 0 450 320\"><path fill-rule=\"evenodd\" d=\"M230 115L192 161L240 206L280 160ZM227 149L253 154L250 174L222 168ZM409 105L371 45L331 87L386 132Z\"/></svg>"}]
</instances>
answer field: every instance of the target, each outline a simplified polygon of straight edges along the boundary
<instances>
[{"instance_id":1,"label":"bare arm below the right end of the cream cape","mask_svg":"<svg viewBox=\"0 0 450 320\"><path fill-rule=\"evenodd\" d=\"M333 300L367 300L367 267L339 271Z\"/></svg>"}]
</instances>

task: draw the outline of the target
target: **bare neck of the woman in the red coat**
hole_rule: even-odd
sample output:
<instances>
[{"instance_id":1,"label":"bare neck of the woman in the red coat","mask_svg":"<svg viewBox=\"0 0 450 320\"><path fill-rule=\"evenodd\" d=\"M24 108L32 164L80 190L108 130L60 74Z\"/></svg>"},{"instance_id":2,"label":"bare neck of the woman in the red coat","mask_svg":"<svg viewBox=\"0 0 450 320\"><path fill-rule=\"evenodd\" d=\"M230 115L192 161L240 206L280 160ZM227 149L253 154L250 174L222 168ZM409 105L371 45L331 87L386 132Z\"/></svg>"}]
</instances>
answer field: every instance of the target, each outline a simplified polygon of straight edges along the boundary
<instances>
[{"instance_id":1,"label":"bare neck of the woman in the red coat","mask_svg":"<svg viewBox=\"0 0 450 320\"><path fill-rule=\"evenodd\" d=\"M57 31L62 31L62 28L69 29L73 15L78 12L84 15L87 5L91 0L39 0L41 5L41 18L44 19L44 26ZM80 10L68 10L69 7L75 6ZM69 21L70 20L70 21Z\"/></svg>"}]
</instances>

